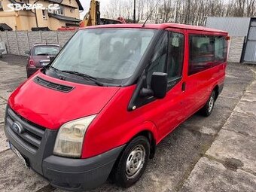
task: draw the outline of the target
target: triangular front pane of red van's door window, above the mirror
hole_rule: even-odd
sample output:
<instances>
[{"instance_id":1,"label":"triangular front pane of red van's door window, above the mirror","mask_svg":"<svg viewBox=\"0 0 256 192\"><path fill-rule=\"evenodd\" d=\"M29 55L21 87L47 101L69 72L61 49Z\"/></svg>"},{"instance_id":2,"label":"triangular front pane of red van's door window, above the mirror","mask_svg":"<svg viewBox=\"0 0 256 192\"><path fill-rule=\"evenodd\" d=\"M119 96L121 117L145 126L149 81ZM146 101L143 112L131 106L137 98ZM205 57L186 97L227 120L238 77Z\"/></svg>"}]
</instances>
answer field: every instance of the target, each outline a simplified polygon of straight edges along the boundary
<instances>
[{"instance_id":1,"label":"triangular front pane of red van's door window, above the mirror","mask_svg":"<svg viewBox=\"0 0 256 192\"><path fill-rule=\"evenodd\" d=\"M147 85L151 84L151 76L154 72L166 72L168 32L166 32L157 46L154 48L154 54L151 57L150 65L147 70Z\"/></svg>"}]
</instances>

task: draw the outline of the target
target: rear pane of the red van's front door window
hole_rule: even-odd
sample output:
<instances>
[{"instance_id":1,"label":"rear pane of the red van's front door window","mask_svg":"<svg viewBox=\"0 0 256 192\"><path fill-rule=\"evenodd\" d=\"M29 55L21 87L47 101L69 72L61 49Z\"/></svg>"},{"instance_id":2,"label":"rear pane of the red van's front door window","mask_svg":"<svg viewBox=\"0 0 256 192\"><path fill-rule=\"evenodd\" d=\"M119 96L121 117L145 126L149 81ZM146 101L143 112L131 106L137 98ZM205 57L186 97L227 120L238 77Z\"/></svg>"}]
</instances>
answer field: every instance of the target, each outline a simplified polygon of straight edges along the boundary
<instances>
[{"instance_id":1,"label":"rear pane of the red van's front door window","mask_svg":"<svg viewBox=\"0 0 256 192\"><path fill-rule=\"evenodd\" d=\"M181 77L183 60L184 35L177 32L169 32L169 53L167 62L168 81Z\"/></svg>"}]
</instances>

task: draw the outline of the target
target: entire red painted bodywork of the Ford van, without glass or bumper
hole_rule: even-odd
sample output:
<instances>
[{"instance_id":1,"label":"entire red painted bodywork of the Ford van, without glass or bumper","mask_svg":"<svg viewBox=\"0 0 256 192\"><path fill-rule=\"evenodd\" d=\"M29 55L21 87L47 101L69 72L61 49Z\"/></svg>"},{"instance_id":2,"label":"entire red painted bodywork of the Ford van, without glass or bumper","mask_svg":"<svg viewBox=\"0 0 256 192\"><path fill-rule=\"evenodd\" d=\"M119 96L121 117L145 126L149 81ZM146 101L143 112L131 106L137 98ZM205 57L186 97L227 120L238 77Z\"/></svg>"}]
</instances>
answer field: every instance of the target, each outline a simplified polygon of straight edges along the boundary
<instances>
[{"instance_id":1,"label":"entire red painted bodywork of the Ford van, without glass or bumper","mask_svg":"<svg viewBox=\"0 0 256 192\"><path fill-rule=\"evenodd\" d=\"M90 28L140 28L139 24L92 26ZM171 28L172 29L169 29ZM181 81L172 87L164 99L128 111L136 85L129 87L97 87L75 84L50 78L38 72L41 78L75 87L70 93L50 90L35 84L34 75L17 88L9 105L18 114L48 129L59 127L70 120L97 114L84 138L82 158L93 157L126 144L136 134L148 130L159 143L176 126L200 109L216 85L224 83L226 62L195 75L187 75L189 62L188 33L227 35L227 32L173 23L148 25L145 29L166 29L185 36L184 68ZM192 30L193 29L193 30ZM181 90L186 84L185 91Z\"/></svg>"}]
</instances>

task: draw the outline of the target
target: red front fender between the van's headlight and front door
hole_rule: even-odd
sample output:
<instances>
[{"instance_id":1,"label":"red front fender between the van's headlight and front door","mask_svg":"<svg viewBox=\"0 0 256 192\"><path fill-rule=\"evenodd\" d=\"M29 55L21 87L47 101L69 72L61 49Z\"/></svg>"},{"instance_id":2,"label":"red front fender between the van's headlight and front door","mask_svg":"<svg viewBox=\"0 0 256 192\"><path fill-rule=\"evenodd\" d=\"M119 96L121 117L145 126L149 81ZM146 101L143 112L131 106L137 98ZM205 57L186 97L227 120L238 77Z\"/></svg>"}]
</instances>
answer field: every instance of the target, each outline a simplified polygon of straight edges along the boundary
<instances>
[{"instance_id":1,"label":"red front fender between the van's headlight and front door","mask_svg":"<svg viewBox=\"0 0 256 192\"><path fill-rule=\"evenodd\" d=\"M149 130L155 139L159 138L156 126L147 120L144 108L127 111L135 87L121 88L96 120L93 120L84 138L83 158L123 145L143 130Z\"/></svg>"}]
</instances>

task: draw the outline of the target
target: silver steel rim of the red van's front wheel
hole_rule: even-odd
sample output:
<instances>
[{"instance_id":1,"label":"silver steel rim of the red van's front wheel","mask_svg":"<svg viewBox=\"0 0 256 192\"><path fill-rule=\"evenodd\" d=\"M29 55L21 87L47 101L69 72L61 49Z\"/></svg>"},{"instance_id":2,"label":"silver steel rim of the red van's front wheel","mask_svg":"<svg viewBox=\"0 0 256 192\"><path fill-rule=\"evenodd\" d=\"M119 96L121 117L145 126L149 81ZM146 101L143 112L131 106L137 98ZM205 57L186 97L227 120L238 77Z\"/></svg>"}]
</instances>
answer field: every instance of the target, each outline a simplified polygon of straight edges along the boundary
<instances>
[{"instance_id":1,"label":"silver steel rim of the red van's front wheel","mask_svg":"<svg viewBox=\"0 0 256 192\"><path fill-rule=\"evenodd\" d=\"M142 145L137 145L130 152L126 160L126 177L135 178L139 174L145 163L145 148Z\"/></svg>"}]
</instances>

